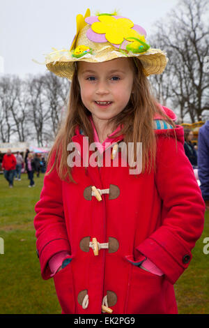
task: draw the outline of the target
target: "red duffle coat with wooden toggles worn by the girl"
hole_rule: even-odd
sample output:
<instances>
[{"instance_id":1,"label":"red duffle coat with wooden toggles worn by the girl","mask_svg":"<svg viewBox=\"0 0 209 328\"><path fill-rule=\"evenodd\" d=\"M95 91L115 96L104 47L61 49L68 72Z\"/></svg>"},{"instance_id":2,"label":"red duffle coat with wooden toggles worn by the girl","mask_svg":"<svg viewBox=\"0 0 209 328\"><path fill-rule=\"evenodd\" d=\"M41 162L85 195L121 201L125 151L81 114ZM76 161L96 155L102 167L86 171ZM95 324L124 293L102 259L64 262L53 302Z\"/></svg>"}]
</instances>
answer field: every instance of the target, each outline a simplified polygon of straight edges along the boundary
<instances>
[{"instance_id":1,"label":"red duffle coat with wooden toggles worn by the girl","mask_svg":"<svg viewBox=\"0 0 209 328\"><path fill-rule=\"evenodd\" d=\"M106 295L113 314L178 313L173 284L201 236L205 204L185 156L183 128L177 126L175 132L177 145L174 131L155 121L155 174L135 177L128 166L119 165L73 167L77 184L61 181L56 170L45 175L35 207L36 246L44 279L51 274L49 259L60 251L70 253L70 264L54 276L62 313L102 313ZM80 144L81 157L83 138L77 129L73 142ZM123 136L116 137L112 144L121 140ZM103 194L98 201L88 193L91 186L109 188L112 195ZM92 238L109 248L94 255ZM141 269L146 258L164 275ZM88 306L83 308L86 295Z\"/></svg>"}]
</instances>

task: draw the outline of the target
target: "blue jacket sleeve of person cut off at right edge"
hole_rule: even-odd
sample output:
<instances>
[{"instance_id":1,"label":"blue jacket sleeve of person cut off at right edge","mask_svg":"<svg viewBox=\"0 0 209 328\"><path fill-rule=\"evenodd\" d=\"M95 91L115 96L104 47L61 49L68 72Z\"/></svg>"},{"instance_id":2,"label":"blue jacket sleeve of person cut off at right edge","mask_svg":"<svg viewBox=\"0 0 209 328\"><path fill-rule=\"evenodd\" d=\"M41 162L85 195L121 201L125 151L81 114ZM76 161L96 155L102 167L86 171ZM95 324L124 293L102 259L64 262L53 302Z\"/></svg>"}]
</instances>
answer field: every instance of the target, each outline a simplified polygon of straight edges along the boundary
<instances>
[{"instance_id":1,"label":"blue jacket sleeve of person cut off at right edge","mask_svg":"<svg viewBox=\"0 0 209 328\"><path fill-rule=\"evenodd\" d=\"M209 137L209 135L208 135ZM209 142L208 142L209 144ZM198 136L198 175L201 181L201 191L204 200L209 200L209 147L203 131Z\"/></svg>"}]
</instances>

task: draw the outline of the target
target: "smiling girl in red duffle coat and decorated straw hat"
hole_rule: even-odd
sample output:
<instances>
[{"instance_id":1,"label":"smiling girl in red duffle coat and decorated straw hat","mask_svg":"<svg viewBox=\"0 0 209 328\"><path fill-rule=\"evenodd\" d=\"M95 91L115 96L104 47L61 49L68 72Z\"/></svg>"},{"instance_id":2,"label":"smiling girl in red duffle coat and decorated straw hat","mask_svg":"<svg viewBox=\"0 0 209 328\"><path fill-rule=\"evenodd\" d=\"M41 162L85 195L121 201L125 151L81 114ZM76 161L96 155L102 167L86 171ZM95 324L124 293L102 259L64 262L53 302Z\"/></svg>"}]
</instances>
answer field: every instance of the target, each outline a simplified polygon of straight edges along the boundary
<instances>
[{"instance_id":1,"label":"smiling girl in red duffle coat and decorated straw hat","mask_svg":"<svg viewBox=\"0 0 209 328\"><path fill-rule=\"evenodd\" d=\"M183 128L147 79L167 57L145 37L127 18L87 10L70 51L46 60L72 80L34 220L62 313L178 313L173 284L203 231Z\"/></svg>"}]
</instances>

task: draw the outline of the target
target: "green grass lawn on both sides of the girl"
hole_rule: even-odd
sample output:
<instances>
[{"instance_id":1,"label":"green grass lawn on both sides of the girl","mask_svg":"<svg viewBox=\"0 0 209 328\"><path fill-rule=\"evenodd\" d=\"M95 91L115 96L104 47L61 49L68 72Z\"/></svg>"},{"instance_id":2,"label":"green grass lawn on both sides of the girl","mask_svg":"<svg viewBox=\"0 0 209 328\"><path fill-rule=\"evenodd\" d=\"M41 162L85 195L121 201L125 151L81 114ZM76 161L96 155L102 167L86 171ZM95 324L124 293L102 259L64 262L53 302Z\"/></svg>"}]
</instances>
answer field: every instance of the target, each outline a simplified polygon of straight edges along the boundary
<instances>
[{"instance_id":1,"label":"green grass lawn on both sides of the girl","mask_svg":"<svg viewBox=\"0 0 209 328\"><path fill-rule=\"evenodd\" d=\"M33 228L34 205L39 200L42 178L28 188L29 180L14 181L14 188L0 175L0 237L4 254L0 255L0 313L61 313L53 279L43 281L36 255ZM179 313L209 313L209 254L203 253L203 239L209 237L209 211L203 234L192 251L189 268L175 285Z\"/></svg>"}]
</instances>

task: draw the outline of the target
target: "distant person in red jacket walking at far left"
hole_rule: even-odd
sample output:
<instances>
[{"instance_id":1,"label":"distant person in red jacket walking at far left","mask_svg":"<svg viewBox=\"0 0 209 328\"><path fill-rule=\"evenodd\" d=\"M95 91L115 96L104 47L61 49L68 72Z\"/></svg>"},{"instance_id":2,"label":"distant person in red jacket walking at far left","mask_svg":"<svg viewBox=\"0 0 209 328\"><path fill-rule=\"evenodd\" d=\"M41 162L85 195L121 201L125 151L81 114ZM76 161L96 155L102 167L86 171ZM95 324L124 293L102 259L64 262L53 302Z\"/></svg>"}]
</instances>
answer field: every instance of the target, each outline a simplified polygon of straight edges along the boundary
<instances>
[{"instance_id":1,"label":"distant person in red jacket walking at far left","mask_svg":"<svg viewBox=\"0 0 209 328\"><path fill-rule=\"evenodd\" d=\"M1 168L10 188L13 188L16 164L17 161L15 156L12 154L11 149L8 149L7 153L3 156Z\"/></svg>"}]
</instances>

